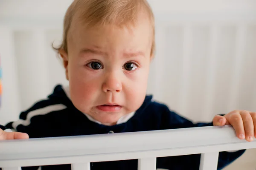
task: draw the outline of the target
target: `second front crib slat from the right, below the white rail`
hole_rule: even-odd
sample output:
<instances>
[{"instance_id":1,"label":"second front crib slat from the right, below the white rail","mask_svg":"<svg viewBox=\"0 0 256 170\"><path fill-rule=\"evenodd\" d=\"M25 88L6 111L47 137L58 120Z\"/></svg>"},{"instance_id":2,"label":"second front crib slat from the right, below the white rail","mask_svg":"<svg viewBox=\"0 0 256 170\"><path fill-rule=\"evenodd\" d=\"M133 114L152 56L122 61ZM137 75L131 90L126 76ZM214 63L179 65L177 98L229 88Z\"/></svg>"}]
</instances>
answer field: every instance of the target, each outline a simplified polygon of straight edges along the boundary
<instances>
[{"instance_id":1,"label":"second front crib slat from the right, below the white rail","mask_svg":"<svg viewBox=\"0 0 256 170\"><path fill-rule=\"evenodd\" d=\"M157 158L143 158L138 160L138 170L156 170Z\"/></svg>"}]
</instances>

